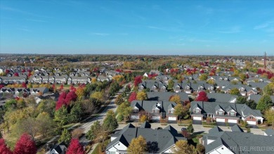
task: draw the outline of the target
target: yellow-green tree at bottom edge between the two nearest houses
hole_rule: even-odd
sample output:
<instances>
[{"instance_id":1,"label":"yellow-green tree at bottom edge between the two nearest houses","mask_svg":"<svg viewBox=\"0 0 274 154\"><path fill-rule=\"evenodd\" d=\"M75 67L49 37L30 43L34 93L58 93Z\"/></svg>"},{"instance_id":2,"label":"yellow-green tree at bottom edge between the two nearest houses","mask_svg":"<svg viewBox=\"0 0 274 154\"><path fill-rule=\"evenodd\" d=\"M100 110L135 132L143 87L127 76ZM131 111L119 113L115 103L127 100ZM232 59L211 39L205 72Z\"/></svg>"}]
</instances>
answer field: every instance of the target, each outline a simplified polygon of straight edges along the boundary
<instances>
[{"instance_id":1,"label":"yellow-green tree at bottom edge between the two nearest houses","mask_svg":"<svg viewBox=\"0 0 274 154\"><path fill-rule=\"evenodd\" d=\"M175 143L174 154L194 154L195 148L193 145L189 145L188 141L178 140Z\"/></svg>"}]
</instances>

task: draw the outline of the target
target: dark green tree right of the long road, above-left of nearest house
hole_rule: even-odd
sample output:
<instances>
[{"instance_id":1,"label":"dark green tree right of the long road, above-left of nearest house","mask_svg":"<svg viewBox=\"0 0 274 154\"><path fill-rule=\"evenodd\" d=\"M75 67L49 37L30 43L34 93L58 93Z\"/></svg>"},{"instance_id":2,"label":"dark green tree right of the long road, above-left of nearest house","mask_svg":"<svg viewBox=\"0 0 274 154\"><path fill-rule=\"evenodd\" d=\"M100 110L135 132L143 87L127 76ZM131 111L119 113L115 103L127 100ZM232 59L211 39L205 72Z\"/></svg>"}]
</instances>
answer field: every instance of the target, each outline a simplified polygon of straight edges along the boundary
<instances>
[{"instance_id":1,"label":"dark green tree right of the long road, above-left of nearest house","mask_svg":"<svg viewBox=\"0 0 274 154\"><path fill-rule=\"evenodd\" d=\"M103 121L103 126L108 131L114 131L119 126L113 110L107 110L107 115L105 117L105 120Z\"/></svg>"}]
</instances>

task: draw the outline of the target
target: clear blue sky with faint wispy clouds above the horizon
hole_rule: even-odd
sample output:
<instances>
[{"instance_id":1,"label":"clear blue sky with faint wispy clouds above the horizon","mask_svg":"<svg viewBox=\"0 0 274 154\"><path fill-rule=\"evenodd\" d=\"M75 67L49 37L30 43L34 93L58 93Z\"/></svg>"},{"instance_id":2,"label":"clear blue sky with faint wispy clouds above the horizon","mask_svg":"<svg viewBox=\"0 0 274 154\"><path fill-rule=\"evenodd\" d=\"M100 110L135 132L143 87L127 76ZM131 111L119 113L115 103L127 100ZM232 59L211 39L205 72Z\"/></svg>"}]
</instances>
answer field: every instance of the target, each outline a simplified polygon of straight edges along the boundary
<instances>
[{"instance_id":1,"label":"clear blue sky with faint wispy clouds above the horizon","mask_svg":"<svg viewBox=\"0 0 274 154\"><path fill-rule=\"evenodd\" d=\"M274 53L274 1L1 0L0 53Z\"/></svg>"}]
</instances>

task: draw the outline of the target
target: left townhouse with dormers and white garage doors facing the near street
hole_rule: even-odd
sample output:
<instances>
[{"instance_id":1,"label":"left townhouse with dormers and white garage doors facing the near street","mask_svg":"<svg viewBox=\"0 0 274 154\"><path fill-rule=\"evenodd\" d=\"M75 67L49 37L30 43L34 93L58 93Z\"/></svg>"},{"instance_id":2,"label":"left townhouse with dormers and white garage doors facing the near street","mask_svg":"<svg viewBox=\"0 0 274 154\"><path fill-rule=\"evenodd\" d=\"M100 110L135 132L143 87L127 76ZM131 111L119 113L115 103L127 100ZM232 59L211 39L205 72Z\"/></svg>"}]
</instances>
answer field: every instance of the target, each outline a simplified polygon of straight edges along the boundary
<instances>
[{"instance_id":1,"label":"left townhouse with dormers and white garage doors facing the near street","mask_svg":"<svg viewBox=\"0 0 274 154\"><path fill-rule=\"evenodd\" d=\"M145 111L150 120L167 119L169 121L176 121L177 116L174 115L176 105L175 102L171 101L132 101L131 107L133 108L133 112L131 113L131 119L140 119L141 114Z\"/></svg>"}]
</instances>

